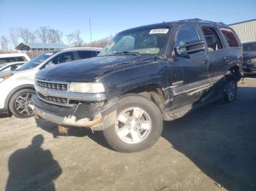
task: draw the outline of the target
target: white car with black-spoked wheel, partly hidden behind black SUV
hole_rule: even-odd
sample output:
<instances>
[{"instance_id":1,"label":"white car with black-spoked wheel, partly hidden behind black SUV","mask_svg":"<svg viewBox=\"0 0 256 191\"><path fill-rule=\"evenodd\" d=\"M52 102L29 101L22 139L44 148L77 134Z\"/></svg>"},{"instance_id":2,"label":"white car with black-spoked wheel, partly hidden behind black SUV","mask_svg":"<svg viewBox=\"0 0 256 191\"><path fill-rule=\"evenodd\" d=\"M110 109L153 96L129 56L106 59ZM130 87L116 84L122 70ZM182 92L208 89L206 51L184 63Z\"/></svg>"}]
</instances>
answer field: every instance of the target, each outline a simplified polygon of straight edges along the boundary
<instances>
[{"instance_id":1,"label":"white car with black-spoked wheel, partly hidden behind black SUV","mask_svg":"<svg viewBox=\"0 0 256 191\"><path fill-rule=\"evenodd\" d=\"M59 63L97 56L102 48L79 47L46 52L32 58L15 71L0 72L0 113L12 113L26 118L34 114L31 96L34 76L40 69ZM72 63L70 63L72 64Z\"/></svg>"}]
</instances>

